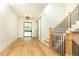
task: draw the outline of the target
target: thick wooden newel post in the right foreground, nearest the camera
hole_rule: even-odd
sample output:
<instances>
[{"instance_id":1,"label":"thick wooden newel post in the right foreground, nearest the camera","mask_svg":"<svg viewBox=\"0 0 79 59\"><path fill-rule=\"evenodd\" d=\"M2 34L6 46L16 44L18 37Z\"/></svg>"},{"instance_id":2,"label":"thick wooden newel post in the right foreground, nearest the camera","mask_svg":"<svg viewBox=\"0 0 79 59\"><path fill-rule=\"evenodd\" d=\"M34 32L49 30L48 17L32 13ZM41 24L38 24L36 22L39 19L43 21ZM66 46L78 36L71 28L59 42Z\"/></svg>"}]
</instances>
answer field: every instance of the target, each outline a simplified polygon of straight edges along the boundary
<instances>
[{"instance_id":1,"label":"thick wooden newel post in the right foreground, nearest the camera","mask_svg":"<svg viewBox=\"0 0 79 59\"><path fill-rule=\"evenodd\" d=\"M72 56L72 32L66 31L65 35L65 55Z\"/></svg>"}]
</instances>

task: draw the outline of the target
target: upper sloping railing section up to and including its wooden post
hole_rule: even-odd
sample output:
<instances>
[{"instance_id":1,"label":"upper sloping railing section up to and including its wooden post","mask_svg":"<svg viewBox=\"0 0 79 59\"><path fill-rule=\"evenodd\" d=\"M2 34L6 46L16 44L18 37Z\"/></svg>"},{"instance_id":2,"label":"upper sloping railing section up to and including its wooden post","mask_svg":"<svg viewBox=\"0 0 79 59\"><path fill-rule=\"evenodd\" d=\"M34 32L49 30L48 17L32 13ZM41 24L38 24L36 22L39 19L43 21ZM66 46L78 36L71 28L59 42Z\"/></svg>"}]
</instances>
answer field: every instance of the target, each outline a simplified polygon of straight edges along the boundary
<instances>
[{"instance_id":1,"label":"upper sloping railing section up to and including its wooden post","mask_svg":"<svg viewBox=\"0 0 79 59\"><path fill-rule=\"evenodd\" d=\"M69 14L60 24L58 24L53 31L64 33L71 27L71 15Z\"/></svg>"}]
</instances>

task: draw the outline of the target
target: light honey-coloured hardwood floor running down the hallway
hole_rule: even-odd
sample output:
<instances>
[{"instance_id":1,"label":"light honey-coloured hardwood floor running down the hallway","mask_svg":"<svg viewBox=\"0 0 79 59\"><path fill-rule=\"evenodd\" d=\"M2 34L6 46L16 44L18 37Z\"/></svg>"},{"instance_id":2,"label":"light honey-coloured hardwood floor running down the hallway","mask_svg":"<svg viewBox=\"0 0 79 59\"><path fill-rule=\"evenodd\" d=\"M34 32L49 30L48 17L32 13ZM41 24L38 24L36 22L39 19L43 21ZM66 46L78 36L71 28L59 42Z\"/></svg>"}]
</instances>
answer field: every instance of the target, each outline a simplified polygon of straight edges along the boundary
<instances>
[{"instance_id":1,"label":"light honey-coloured hardwood floor running down the hallway","mask_svg":"<svg viewBox=\"0 0 79 59\"><path fill-rule=\"evenodd\" d=\"M37 39L17 39L0 53L1 56L58 56Z\"/></svg>"}]
</instances>

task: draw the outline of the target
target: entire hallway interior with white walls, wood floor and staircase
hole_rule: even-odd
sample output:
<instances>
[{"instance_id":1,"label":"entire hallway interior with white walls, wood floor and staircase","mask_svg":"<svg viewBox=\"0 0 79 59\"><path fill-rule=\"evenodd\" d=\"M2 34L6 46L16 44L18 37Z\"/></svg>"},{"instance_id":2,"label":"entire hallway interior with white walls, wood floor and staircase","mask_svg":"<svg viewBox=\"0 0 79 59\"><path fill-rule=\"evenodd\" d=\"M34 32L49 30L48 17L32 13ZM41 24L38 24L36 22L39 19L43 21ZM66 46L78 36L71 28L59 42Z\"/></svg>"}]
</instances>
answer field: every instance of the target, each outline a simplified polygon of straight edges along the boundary
<instances>
[{"instance_id":1,"label":"entire hallway interior with white walls, wood floor and staircase","mask_svg":"<svg viewBox=\"0 0 79 59\"><path fill-rule=\"evenodd\" d=\"M79 56L78 3L4 3L0 8L1 56Z\"/></svg>"}]
</instances>

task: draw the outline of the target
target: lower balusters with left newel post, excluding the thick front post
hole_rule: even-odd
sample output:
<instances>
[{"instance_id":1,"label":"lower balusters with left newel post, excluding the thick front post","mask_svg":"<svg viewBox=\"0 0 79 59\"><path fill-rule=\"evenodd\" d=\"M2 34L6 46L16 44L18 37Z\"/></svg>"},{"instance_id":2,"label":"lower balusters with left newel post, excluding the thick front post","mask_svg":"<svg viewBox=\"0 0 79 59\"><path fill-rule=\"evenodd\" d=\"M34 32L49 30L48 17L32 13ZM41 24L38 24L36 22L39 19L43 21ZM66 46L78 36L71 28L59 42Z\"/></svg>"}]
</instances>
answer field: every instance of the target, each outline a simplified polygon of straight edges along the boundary
<instances>
[{"instance_id":1,"label":"lower balusters with left newel post, excluding the thick front post","mask_svg":"<svg viewBox=\"0 0 79 59\"><path fill-rule=\"evenodd\" d=\"M65 37L61 33L53 33L52 28L49 28L49 47L56 51L59 55L65 55Z\"/></svg>"}]
</instances>

